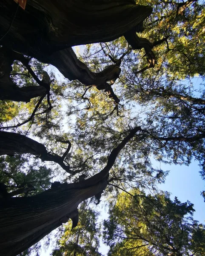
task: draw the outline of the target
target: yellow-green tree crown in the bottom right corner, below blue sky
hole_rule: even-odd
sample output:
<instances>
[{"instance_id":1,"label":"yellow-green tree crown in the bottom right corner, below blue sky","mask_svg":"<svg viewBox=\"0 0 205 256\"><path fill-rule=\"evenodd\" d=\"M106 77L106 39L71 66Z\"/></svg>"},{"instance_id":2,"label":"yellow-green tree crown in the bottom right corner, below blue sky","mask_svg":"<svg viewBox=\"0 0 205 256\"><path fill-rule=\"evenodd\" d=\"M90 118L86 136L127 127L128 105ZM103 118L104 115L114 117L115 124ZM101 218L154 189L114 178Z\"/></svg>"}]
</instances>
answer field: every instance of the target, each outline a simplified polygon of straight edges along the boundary
<instances>
[{"instance_id":1,"label":"yellow-green tree crown in the bottom right corner, below blue sky","mask_svg":"<svg viewBox=\"0 0 205 256\"><path fill-rule=\"evenodd\" d=\"M122 192L104 222L108 255L204 255L205 226L193 212L193 204L168 194Z\"/></svg>"}]
</instances>

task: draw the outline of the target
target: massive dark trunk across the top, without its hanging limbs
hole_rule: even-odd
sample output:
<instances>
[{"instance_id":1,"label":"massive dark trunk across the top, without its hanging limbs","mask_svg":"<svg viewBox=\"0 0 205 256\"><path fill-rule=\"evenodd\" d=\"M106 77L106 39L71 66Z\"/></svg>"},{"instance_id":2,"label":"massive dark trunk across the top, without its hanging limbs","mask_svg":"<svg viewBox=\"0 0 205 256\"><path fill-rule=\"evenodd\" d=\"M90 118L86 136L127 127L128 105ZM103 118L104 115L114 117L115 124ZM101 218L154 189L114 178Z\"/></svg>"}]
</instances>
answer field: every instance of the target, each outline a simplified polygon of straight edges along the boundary
<instances>
[{"instance_id":1,"label":"massive dark trunk across the top, without its hanging limbs","mask_svg":"<svg viewBox=\"0 0 205 256\"><path fill-rule=\"evenodd\" d=\"M25 11L14 1L0 1L1 44L40 58L74 45L112 41L151 11L134 0L29 0Z\"/></svg>"}]
</instances>

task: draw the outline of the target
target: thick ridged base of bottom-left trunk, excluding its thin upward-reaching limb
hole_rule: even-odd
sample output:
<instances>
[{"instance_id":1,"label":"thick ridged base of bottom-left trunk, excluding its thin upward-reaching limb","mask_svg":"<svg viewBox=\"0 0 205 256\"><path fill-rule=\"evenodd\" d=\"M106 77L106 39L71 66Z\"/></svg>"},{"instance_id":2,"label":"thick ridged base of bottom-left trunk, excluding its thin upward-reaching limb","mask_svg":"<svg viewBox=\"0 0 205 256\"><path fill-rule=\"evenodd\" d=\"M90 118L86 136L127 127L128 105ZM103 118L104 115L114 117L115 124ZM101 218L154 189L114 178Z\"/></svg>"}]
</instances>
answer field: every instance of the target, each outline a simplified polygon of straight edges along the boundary
<instances>
[{"instance_id":1,"label":"thick ridged base of bottom-left trunk, excluding its thin upward-reaching limb","mask_svg":"<svg viewBox=\"0 0 205 256\"><path fill-rule=\"evenodd\" d=\"M73 218L78 205L106 187L106 180L79 189L61 184L40 195L0 201L1 256L15 256L31 247L62 223ZM71 185L76 189L71 189Z\"/></svg>"}]
</instances>

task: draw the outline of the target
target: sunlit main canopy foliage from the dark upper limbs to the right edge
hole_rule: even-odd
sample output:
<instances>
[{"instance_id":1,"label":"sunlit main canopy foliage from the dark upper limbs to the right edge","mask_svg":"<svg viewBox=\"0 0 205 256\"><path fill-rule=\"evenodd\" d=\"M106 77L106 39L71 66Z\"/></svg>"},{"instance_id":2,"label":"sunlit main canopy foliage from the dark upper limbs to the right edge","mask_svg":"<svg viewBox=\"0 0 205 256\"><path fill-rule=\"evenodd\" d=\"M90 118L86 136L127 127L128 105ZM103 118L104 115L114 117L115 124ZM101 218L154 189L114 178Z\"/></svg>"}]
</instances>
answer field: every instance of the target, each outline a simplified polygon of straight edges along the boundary
<instances>
[{"instance_id":1,"label":"sunlit main canopy foliage from the dark upper limbs to the right edge","mask_svg":"<svg viewBox=\"0 0 205 256\"><path fill-rule=\"evenodd\" d=\"M72 148L65 161L77 174L91 177L97 173L123 134L140 125L141 131L123 149L110 173L110 180L117 186L124 186L125 180L142 187L147 181L149 186L163 182L167 173L154 169L150 157L176 164L189 164L194 157L202 165L202 175L204 172L204 82L197 88L193 85L196 80L186 79L204 72L204 5L197 1L190 1L185 7L178 5L180 1L138 2L154 8L140 38L152 43L164 40L152 49L156 55L154 68L138 73L146 66L145 52L132 51L123 37L78 48L80 60L93 72L104 70L123 56L120 77L113 84L120 105L114 105L108 94L97 87L83 86L78 81L59 82L50 67L35 59L29 61L39 79L43 70L48 71L53 108L49 111L43 99L23 131L57 155L65 151L65 144L60 141L69 140ZM13 64L12 79L18 86L36 85L20 61ZM28 119L37 102L34 98L22 103L12 125ZM67 175L63 178L77 180Z\"/></svg>"}]
</instances>

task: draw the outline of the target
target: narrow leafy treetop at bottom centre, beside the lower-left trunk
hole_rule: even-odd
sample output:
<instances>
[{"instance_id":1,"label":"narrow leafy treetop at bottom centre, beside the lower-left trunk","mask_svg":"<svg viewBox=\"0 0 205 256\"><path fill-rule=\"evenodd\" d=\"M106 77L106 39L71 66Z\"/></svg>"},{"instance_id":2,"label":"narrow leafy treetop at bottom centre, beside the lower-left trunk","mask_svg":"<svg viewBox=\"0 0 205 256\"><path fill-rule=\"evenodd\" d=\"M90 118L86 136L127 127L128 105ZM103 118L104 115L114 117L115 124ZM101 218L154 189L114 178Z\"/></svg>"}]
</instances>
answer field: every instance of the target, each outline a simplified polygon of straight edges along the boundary
<instances>
[{"instance_id":1,"label":"narrow leafy treetop at bottom centre, beside the lower-left trunk","mask_svg":"<svg viewBox=\"0 0 205 256\"><path fill-rule=\"evenodd\" d=\"M79 207L79 222L74 230L71 223L65 224L58 234L57 248L52 256L100 256L98 252L100 228L97 224L98 213L83 202Z\"/></svg>"}]
</instances>

